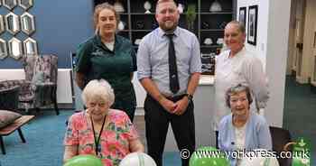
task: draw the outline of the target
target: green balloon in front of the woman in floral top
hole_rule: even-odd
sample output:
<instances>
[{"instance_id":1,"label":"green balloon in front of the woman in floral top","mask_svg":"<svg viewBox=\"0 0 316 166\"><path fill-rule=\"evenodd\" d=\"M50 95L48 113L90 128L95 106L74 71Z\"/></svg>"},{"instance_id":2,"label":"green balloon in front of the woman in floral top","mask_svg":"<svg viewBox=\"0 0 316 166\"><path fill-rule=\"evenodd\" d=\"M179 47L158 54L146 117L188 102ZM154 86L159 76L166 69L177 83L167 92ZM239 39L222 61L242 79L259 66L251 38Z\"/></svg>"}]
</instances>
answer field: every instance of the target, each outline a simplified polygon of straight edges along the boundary
<instances>
[{"instance_id":1,"label":"green balloon in front of the woman in floral top","mask_svg":"<svg viewBox=\"0 0 316 166\"><path fill-rule=\"evenodd\" d=\"M93 155L78 155L71 158L63 166L103 166L103 163Z\"/></svg>"}]
</instances>

